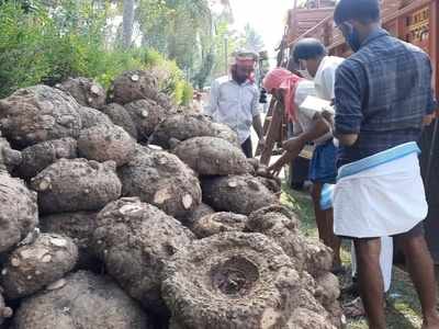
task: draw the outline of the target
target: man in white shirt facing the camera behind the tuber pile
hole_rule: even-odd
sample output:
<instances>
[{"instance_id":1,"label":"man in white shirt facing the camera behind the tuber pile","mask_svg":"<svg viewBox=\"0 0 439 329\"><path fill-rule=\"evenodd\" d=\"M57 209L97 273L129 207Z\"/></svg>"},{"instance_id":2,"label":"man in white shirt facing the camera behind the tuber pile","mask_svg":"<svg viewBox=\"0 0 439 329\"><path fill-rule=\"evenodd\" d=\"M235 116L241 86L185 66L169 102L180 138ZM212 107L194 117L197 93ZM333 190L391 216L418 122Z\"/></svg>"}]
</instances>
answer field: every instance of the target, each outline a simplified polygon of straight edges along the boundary
<instances>
[{"instance_id":1,"label":"man in white shirt facing the camera behind the tuber pile","mask_svg":"<svg viewBox=\"0 0 439 329\"><path fill-rule=\"evenodd\" d=\"M230 76L216 79L204 113L214 122L229 126L237 135L244 154L252 157L251 126L259 143L263 144L262 122L259 112L259 91L254 82L258 55L239 52L230 68Z\"/></svg>"}]
</instances>

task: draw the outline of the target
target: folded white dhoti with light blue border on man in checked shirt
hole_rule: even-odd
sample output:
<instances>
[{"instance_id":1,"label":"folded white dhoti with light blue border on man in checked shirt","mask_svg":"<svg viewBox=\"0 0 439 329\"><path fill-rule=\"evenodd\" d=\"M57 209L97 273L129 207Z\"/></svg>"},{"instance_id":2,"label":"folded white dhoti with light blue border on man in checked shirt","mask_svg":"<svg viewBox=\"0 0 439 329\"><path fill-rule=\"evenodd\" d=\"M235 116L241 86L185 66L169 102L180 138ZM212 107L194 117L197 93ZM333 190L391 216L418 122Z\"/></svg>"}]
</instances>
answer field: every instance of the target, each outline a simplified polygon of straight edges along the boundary
<instances>
[{"instance_id":1,"label":"folded white dhoti with light blue border on man in checked shirt","mask_svg":"<svg viewBox=\"0 0 439 329\"><path fill-rule=\"evenodd\" d=\"M337 236L395 236L426 218L418 151L415 143L404 144L340 168L334 189Z\"/></svg>"}]
</instances>

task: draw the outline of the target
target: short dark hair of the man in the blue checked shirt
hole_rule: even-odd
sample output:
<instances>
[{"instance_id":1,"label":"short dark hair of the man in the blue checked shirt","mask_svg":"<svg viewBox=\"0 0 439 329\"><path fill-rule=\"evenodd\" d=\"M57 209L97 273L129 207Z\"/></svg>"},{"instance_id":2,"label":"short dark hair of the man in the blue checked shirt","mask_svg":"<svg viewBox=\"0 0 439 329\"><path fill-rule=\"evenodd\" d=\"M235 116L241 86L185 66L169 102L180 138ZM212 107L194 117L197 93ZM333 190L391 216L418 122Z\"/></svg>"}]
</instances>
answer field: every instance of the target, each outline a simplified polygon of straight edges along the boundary
<instances>
[{"instance_id":1,"label":"short dark hair of the man in the blue checked shirt","mask_svg":"<svg viewBox=\"0 0 439 329\"><path fill-rule=\"evenodd\" d=\"M380 1L340 0L334 12L334 21L339 25L349 20L358 20L363 23L380 21Z\"/></svg>"}]
</instances>

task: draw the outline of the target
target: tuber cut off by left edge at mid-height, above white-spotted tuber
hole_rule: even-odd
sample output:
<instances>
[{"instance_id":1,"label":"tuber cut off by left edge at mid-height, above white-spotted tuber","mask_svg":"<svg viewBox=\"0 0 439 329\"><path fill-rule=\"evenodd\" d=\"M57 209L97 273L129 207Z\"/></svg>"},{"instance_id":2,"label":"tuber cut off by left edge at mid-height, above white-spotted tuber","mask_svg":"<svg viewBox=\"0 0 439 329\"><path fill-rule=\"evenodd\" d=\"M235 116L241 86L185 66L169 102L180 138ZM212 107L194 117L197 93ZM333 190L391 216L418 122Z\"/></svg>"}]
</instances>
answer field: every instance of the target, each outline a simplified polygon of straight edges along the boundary
<instances>
[{"instance_id":1,"label":"tuber cut off by left edge at mid-height, above white-spotted tuber","mask_svg":"<svg viewBox=\"0 0 439 329\"><path fill-rule=\"evenodd\" d=\"M24 239L37 224L36 193L0 171L0 253Z\"/></svg>"}]
</instances>

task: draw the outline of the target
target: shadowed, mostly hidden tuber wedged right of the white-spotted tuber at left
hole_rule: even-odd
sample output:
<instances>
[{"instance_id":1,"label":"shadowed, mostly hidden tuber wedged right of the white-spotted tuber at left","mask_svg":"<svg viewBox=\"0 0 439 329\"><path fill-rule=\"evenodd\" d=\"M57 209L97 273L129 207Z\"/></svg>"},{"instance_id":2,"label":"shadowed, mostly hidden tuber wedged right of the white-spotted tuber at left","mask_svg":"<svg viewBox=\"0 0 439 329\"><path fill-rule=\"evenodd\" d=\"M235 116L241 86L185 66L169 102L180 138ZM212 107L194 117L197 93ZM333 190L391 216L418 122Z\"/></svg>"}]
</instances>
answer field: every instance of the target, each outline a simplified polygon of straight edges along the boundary
<instances>
[{"instance_id":1,"label":"shadowed, mostly hidden tuber wedged right of the white-spotted tuber at left","mask_svg":"<svg viewBox=\"0 0 439 329\"><path fill-rule=\"evenodd\" d=\"M69 237L78 247L77 266L81 269L98 269L100 262L92 252L92 238L97 228L95 212L63 213L43 216L40 227L43 232L58 234Z\"/></svg>"}]
</instances>

